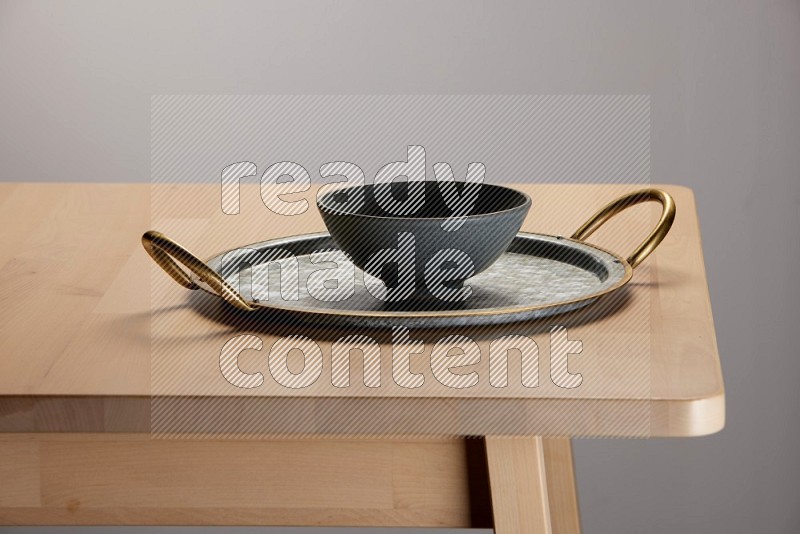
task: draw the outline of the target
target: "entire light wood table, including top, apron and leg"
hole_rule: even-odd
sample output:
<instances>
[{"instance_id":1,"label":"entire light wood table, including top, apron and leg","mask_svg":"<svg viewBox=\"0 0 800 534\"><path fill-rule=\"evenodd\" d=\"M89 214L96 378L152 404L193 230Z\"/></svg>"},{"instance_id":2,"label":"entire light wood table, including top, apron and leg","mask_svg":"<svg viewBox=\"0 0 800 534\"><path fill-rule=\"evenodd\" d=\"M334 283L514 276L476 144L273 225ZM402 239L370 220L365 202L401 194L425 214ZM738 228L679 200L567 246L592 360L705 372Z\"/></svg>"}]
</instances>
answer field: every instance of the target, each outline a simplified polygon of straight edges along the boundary
<instances>
[{"instance_id":1,"label":"entire light wood table, including top, apron and leg","mask_svg":"<svg viewBox=\"0 0 800 534\"><path fill-rule=\"evenodd\" d=\"M518 187L534 199L523 230L565 235L634 189ZM592 320L579 314L563 319L591 356L575 360L587 382L581 395L512 387L455 399L322 390L278 399L274 389L231 393L235 388L220 386L220 347L235 329L200 313L213 297L171 284L139 237L153 227L207 257L320 231L314 209L291 224L281 222L260 204L255 185L243 187L241 214L233 218L213 209L218 185L0 185L0 524L578 532L570 437L688 437L724 425L693 195L663 188L674 196L678 215L664 243L637 268L625 302ZM655 208L628 210L614 223L617 231L593 241L625 254L635 245L632 236L641 239L656 215ZM625 228L630 231L619 230ZM524 326L531 332L540 327ZM177 337L167 339L169 333ZM281 333L259 335L268 346ZM620 336L647 350L620 352ZM164 360L153 355L168 346L174 347L169 362L175 373L191 376L191 387L154 380L154 365ZM625 358L645 362L644 387L620 386L631 385L614 374L625 370L618 364ZM291 417L264 422L256 435L153 439L154 399L203 397L255 406L280 402ZM391 414L384 425L360 427L347 410L335 424L315 418L332 406L360 410L378 402ZM422 414L418 425L399 413L409 406ZM429 414L442 410L450 410L450 418L432 430ZM499 422L482 421L481 414L495 414ZM448 426L453 417L458 425ZM407 424L395 426L400 421ZM264 429L273 423L277 430L269 436ZM498 428L514 429L504 432L514 437L493 435ZM454 433L464 429L481 437Z\"/></svg>"}]
</instances>

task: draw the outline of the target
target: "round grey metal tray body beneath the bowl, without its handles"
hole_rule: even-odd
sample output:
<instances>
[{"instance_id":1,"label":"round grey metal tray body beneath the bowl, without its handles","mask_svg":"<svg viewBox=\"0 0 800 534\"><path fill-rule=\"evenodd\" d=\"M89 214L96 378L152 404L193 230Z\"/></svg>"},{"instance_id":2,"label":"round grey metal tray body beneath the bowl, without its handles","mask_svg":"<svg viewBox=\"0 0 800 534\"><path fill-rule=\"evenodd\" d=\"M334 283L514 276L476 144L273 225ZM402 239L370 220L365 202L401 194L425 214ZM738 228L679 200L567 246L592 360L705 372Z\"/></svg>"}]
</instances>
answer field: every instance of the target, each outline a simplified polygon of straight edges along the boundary
<instances>
[{"instance_id":1,"label":"round grey metal tray body beneath the bowl, without its handles","mask_svg":"<svg viewBox=\"0 0 800 534\"><path fill-rule=\"evenodd\" d=\"M373 297L364 284L364 277L369 275L357 268L354 292L349 298L325 301L310 295L306 286L309 275L334 266L319 259L312 263L312 253L325 250L338 250L328 234L307 234L226 251L207 264L238 288L245 300L260 308L310 314L317 319L324 316L326 325L375 327L440 327L538 319L586 306L623 286L631 277L626 262L593 245L559 236L520 233L497 262L466 282L472 287L472 295L466 301L431 298L406 303L401 308ZM275 260L276 253L286 257ZM281 276L290 273L294 263L290 255L297 259L299 269L299 291L290 295L291 299L281 293ZM225 272L221 272L223 258ZM249 260L249 272L242 271L239 276L238 267L245 259ZM269 260L274 260L272 268ZM274 268L275 263L281 268ZM194 281L213 293L197 277Z\"/></svg>"}]
</instances>

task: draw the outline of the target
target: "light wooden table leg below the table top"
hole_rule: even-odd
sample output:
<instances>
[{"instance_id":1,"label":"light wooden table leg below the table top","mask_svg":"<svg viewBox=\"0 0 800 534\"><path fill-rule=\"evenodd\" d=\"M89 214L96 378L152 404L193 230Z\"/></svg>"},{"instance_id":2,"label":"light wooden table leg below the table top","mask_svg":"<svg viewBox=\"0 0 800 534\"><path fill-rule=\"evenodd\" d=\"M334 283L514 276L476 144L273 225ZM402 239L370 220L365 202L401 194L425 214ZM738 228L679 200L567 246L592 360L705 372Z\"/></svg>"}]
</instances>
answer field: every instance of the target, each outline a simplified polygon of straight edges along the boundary
<instances>
[{"instance_id":1,"label":"light wooden table leg below the table top","mask_svg":"<svg viewBox=\"0 0 800 534\"><path fill-rule=\"evenodd\" d=\"M572 446L567 438L486 438L497 534L579 533Z\"/></svg>"}]
</instances>

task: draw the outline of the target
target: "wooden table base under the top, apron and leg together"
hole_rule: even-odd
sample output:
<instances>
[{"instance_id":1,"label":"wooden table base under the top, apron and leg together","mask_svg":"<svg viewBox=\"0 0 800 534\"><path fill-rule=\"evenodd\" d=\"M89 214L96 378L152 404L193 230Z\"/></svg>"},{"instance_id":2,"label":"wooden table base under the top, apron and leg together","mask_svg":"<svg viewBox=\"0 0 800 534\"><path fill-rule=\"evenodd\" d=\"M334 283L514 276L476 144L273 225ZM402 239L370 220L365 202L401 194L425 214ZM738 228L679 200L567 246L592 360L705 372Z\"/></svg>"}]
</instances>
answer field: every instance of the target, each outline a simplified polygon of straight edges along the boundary
<instances>
[{"instance_id":1,"label":"wooden table base under the top, apron and leg together","mask_svg":"<svg viewBox=\"0 0 800 534\"><path fill-rule=\"evenodd\" d=\"M568 439L0 433L0 525L580 531Z\"/></svg>"}]
</instances>

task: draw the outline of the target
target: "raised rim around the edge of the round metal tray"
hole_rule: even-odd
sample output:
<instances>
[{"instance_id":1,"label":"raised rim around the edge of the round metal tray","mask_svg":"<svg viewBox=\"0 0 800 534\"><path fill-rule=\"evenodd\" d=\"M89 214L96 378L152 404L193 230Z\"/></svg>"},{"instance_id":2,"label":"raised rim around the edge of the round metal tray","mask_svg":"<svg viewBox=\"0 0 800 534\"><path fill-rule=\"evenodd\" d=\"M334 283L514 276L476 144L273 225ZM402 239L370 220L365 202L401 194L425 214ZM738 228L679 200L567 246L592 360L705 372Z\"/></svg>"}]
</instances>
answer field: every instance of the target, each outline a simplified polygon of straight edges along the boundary
<instances>
[{"instance_id":1,"label":"raised rim around the edge of the round metal tray","mask_svg":"<svg viewBox=\"0 0 800 534\"><path fill-rule=\"evenodd\" d=\"M258 243L270 243L278 245L282 242L295 242L299 240L306 240L306 239L318 239L323 237L329 237L330 233L328 232L312 232L306 234L297 234L293 236L285 236L285 237L277 237L274 239L267 239L265 241L259 241ZM509 315L516 315L516 314L524 314L524 313L533 313L537 311L547 310L550 308L567 308L564 312L556 312L556 315L559 313L568 313L574 309L580 308L570 308L576 304L586 303L586 305L591 304L594 300L608 295L609 293L613 293L614 291L622 288L628 282L630 282L631 278L633 277L633 268L631 267L630 263L620 256L608 249L603 247L599 247L592 243L587 243L586 241L581 241L578 239L573 239L571 237L565 237L561 235L553 235L553 234L543 234L538 232L517 232L515 238L517 237L546 237L551 239L557 239L560 241L568 241L571 243L575 243L584 247L589 247L596 251L602 252L604 254L608 254L614 260L618 261L624 268L625 272L620 279L615 282L613 285L601 290L597 291L588 295L584 295L580 298L569 299L569 300L562 300L558 302L552 302L548 304L539 304L539 305L531 305L531 306L505 306L502 308L483 308L483 309L471 309L471 310L402 310L402 311L395 311L395 310L358 310L358 309L331 309L331 308L294 308L289 306L281 306L280 304L275 304L274 301L265 301L265 302L249 302L251 306L253 306L255 312L260 310L279 310L287 313L295 313L295 314L303 314L303 315L314 315L314 316L349 316L349 317L364 317L364 318L380 318L380 319L394 319L394 320L401 320L401 319L428 319L428 318L460 318L460 317L498 317L498 316L509 316ZM249 245L242 245L239 247L234 247L222 252L218 252L213 256L208 257L205 260L206 265L208 265L212 260L219 258L220 256L227 254L228 252L232 252L241 248L246 248L250 245L255 243L250 243ZM192 273L192 279L195 281L197 286L210 295L215 297L219 297L217 293L212 290L209 290L205 283L200 280L200 278Z\"/></svg>"}]
</instances>

